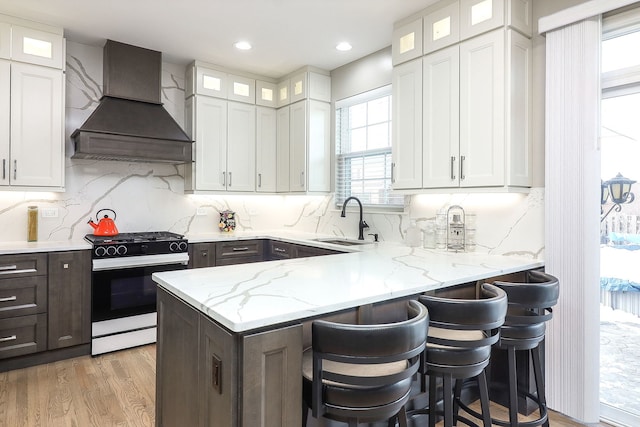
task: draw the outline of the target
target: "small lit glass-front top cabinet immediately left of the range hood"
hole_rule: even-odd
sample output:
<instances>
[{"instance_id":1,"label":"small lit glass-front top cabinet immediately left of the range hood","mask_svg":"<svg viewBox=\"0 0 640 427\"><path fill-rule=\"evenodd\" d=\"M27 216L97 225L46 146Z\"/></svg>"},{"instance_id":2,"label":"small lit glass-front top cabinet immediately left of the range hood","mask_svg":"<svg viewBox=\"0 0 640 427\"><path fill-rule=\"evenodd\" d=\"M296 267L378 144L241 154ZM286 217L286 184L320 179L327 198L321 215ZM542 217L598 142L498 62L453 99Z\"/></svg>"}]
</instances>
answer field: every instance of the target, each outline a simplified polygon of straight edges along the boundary
<instances>
[{"instance_id":1,"label":"small lit glass-front top cabinet immediately left of the range hood","mask_svg":"<svg viewBox=\"0 0 640 427\"><path fill-rule=\"evenodd\" d=\"M19 25L11 26L11 59L57 69L64 68L62 35Z\"/></svg>"}]
</instances>

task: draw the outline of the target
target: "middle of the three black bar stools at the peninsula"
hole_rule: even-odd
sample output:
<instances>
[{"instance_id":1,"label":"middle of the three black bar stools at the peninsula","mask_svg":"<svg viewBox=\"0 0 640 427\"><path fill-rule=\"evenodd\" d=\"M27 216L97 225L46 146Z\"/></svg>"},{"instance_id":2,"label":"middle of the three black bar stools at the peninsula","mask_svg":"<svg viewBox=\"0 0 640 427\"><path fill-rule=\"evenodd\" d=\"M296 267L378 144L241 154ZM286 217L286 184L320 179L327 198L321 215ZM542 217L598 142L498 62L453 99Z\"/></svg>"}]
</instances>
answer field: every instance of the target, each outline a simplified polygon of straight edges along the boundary
<instances>
[{"instance_id":1,"label":"middle of the three black bar stools at the peninsula","mask_svg":"<svg viewBox=\"0 0 640 427\"><path fill-rule=\"evenodd\" d=\"M507 312L507 296L501 289L485 283L479 299L452 299L421 295L419 301L429 310L429 335L424 373L429 376L429 426L434 427L439 414L436 403L437 378L443 383L444 425L458 421L475 426L458 415L463 380L478 378L480 405L485 427L491 426L489 395L485 367L491 346L498 341L500 326ZM455 391L453 390L453 380ZM412 411L412 414L421 411Z\"/></svg>"}]
</instances>

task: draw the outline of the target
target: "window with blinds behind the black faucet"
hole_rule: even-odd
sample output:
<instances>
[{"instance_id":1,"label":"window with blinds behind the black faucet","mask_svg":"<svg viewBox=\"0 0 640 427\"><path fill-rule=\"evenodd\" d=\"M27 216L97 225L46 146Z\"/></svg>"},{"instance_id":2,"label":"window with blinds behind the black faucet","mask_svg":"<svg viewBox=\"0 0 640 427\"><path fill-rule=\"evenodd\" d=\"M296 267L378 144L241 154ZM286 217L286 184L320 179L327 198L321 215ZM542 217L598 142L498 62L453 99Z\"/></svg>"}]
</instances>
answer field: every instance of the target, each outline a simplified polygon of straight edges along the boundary
<instances>
[{"instance_id":1,"label":"window with blinds behind the black faucet","mask_svg":"<svg viewBox=\"0 0 640 427\"><path fill-rule=\"evenodd\" d=\"M391 189L391 88L336 104L336 205L350 196L364 205L401 210Z\"/></svg>"}]
</instances>

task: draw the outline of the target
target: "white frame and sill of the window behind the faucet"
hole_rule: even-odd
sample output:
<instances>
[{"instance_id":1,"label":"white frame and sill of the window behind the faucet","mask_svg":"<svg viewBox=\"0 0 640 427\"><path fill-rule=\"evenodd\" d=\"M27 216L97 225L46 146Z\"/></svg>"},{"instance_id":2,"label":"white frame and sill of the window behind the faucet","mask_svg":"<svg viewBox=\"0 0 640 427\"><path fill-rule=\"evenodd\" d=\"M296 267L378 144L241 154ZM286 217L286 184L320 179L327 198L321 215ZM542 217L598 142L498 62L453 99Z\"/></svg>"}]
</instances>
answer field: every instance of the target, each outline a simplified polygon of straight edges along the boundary
<instances>
[{"instance_id":1,"label":"white frame and sill of the window behind the faucet","mask_svg":"<svg viewBox=\"0 0 640 427\"><path fill-rule=\"evenodd\" d=\"M369 101L373 101L375 99L378 98L382 98L385 96L389 96L391 102L393 102L393 99L391 99L391 85L387 85L387 86L383 86L377 89L373 89L367 92L364 92L362 94L359 95L355 95L349 98L345 98L342 99L340 101L337 101L335 103L335 117L336 117L336 135L335 135L335 141L336 141L336 154L335 154L335 197L334 197L334 202L336 204L337 207L342 207L342 204L344 202L344 200L348 197L350 197L352 194L351 192L346 188L346 184L344 183L344 179L346 178L346 174L345 171L343 170L342 165L342 161L345 158L359 158L359 157L372 157L372 156L379 156L379 155L386 155L388 156L388 164L389 164L389 170L386 170L385 168L385 181L388 180L389 182L389 191L392 192L393 190L391 189L391 126L393 126L392 123L392 114L391 114L391 105L389 105L389 129L388 129L388 135L389 135L389 146L385 147L385 148L377 148L377 149L371 149L371 150L364 150L364 151L359 151L359 152L350 152L350 153L341 153L341 146L342 146L342 126L341 126L341 122L340 122L340 118L341 118L341 113L340 110L343 108L349 108L358 104L364 104L367 103ZM386 162L385 162L386 163ZM343 176L341 176L343 175ZM358 197L359 195L355 195L356 197ZM402 212L405 209L406 206L406 200L405 200L405 196L403 195L398 195L398 194L394 194L391 196L391 201L396 201L398 203L369 203L368 200L366 199L366 197L362 197L361 201L362 204L364 206L369 207L370 209L375 209L375 210L381 210L381 211L393 211L393 212Z\"/></svg>"}]
</instances>

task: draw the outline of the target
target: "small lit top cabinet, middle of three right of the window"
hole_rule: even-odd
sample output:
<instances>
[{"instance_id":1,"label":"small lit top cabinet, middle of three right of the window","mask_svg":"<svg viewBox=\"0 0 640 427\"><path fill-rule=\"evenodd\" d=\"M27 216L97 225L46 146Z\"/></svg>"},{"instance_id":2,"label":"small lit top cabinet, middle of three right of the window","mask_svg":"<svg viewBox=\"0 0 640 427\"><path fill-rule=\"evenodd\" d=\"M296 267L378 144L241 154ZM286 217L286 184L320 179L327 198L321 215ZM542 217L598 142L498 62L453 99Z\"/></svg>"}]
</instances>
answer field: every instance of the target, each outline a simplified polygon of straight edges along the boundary
<instances>
[{"instance_id":1,"label":"small lit top cabinet, middle of three right of the window","mask_svg":"<svg viewBox=\"0 0 640 427\"><path fill-rule=\"evenodd\" d=\"M460 41L460 3L455 1L424 17L424 53L442 49Z\"/></svg>"}]
</instances>

